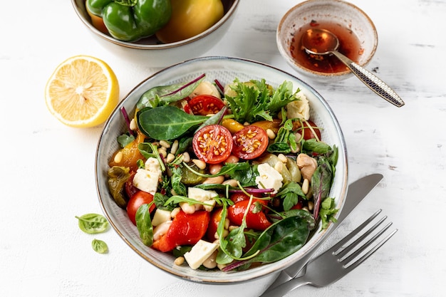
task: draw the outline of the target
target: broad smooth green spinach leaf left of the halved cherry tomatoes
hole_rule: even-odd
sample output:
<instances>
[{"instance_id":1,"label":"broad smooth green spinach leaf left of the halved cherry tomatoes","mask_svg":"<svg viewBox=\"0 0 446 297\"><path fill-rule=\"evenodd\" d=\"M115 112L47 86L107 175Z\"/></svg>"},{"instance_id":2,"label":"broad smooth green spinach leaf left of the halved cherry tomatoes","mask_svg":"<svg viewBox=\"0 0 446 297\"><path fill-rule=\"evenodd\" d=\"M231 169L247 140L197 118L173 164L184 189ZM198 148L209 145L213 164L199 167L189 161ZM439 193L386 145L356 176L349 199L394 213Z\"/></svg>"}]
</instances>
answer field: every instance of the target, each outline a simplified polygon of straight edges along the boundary
<instances>
[{"instance_id":1,"label":"broad smooth green spinach leaf left of the halved cherry tomatoes","mask_svg":"<svg viewBox=\"0 0 446 297\"><path fill-rule=\"evenodd\" d=\"M209 117L190 115L170 105L145 108L138 113L138 127L141 132L155 140L173 140L206 120Z\"/></svg>"}]
</instances>

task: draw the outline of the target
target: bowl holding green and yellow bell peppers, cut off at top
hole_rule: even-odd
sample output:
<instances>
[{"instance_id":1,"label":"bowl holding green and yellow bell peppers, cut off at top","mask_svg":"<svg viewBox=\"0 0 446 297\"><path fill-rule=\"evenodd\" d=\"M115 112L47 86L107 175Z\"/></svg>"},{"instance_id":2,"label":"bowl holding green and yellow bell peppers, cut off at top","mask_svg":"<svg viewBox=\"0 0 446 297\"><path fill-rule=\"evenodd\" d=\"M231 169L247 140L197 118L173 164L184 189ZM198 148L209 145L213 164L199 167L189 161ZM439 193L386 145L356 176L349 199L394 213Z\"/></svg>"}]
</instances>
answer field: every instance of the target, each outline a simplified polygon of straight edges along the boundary
<instances>
[{"instance_id":1,"label":"bowl holding green and yellow bell peppers, cut off at top","mask_svg":"<svg viewBox=\"0 0 446 297\"><path fill-rule=\"evenodd\" d=\"M71 0L79 19L119 56L167 66L209 51L234 20L239 0Z\"/></svg>"}]
</instances>

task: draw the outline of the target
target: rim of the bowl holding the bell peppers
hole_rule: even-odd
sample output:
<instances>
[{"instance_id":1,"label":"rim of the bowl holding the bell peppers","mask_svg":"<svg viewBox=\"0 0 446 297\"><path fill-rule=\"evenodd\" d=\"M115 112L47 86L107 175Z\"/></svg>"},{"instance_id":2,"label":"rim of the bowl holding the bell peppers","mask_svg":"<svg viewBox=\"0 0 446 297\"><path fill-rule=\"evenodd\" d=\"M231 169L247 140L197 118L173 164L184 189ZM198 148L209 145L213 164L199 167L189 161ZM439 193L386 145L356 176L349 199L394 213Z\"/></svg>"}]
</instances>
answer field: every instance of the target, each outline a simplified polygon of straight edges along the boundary
<instances>
[{"instance_id":1,"label":"rim of the bowl holding the bell peppers","mask_svg":"<svg viewBox=\"0 0 446 297\"><path fill-rule=\"evenodd\" d=\"M231 19L232 15L235 13L235 11L237 9L237 6L240 3L240 0L233 0L232 5L229 7L226 14L224 14L222 16L222 19L219 19L219 21L217 21L217 23L215 23L213 26L208 28L206 31L203 31L202 33L199 33L195 36L184 39L182 41L176 41L176 42L172 42L172 43L143 44L143 43L137 43L138 41L133 41L133 42L120 41L116 38L113 38L112 36L110 36L108 34L105 34L101 31L99 31L97 28L95 28L95 26L93 26L93 24L91 24L91 21L86 19L85 15L81 13L79 6L78 6L79 1L81 2L81 4L83 4L83 7L85 9L85 1L71 0L71 4L73 5L74 11L76 11L76 15L78 16L79 19L81 19L83 24L85 24L85 26L87 26L87 28L90 29L90 31L92 33L94 33L95 35L99 36L100 38L103 38L105 41L110 41L111 43L114 43L118 46L125 46L127 48L135 48L135 49L140 49L140 50L157 50L157 51L162 51L162 50L166 50L169 48L177 48L180 46L185 46L186 44L193 43L194 41L202 39L202 38L208 36L209 34L211 34L212 32L217 31L218 28L223 26L224 23L226 23L227 21L229 21L229 19ZM151 37L152 36L147 37L147 38L151 38ZM144 38L142 38L142 39L144 39Z\"/></svg>"}]
</instances>

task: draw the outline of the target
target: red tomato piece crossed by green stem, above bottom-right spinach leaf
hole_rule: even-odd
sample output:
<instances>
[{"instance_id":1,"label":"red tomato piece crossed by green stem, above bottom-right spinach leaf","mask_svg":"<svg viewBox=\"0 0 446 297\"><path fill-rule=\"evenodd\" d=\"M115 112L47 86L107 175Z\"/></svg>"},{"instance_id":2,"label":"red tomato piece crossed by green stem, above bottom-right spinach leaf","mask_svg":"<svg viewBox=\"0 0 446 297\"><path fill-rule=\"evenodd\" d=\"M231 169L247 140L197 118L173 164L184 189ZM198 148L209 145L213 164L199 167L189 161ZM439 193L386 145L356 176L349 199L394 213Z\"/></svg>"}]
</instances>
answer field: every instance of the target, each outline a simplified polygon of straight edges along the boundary
<instances>
[{"instance_id":1,"label":"red tomato piece crossed by green stem, above bottom-right spinach leaf","mask_svg":"<svg viewBox=\"0 0 446 297\"><path fill-rule=\"evenodd\" d=\"M254 209L256 207L255 202L259 202L260 204L265 204L266 202L261 199L253 199L251 202L251 207L249 207L249 212L247 214L247 228L261 230L268 228L271 226L271 222L266 219L266 215L264 212L256 212L254 213ZM242 200L237 202L234 205L231 205L228 208L228 219L232 224L240 226L243 221L244 213L247 210L249 204L249 199Z\"/></svg>"}]
</instances>

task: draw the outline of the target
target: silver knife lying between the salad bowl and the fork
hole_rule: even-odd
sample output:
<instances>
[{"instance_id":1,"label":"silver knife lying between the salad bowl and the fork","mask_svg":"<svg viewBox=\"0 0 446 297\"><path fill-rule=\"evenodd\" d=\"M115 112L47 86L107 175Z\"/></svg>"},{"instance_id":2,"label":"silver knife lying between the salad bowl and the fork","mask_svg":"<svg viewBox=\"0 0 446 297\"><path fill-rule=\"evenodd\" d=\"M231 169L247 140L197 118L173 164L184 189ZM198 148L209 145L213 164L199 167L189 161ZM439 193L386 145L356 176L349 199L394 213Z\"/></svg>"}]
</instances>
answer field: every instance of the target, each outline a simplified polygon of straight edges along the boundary
<instances>
[{"instance_id":1,"label":"silver knife lying between the salad bowl and the fork","mask_svg":"<svg viewBox=\"0 0 446 297\"><path fill-rule=\"evenodd\" d=\"M339 224L341 224L343 219L345 219L348 214L350 214L351 211L359 204L359 202L361 202L363 198L366 197L373 188L375 188L381 179L383 179L383 174L370 174L356 180L356 182L353 182L348 186L346 202L344 203L341 214L339 214L338 221L334 225L334 228L331 229L330 233L333 232L339 226ZM311 251L309 251L302 259L281 271L279 276L276 278L274 283L269 286L266 292L272 288L275 288L276 286L281 285L282 283L286 283L286 281L289 281L291 278L296 277L307 262L310 261L311 257L322 243L323 241L320 241L318 244L315 244L313 249L311 249Z\"/></svg>"}]
</instances>

